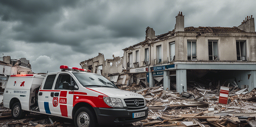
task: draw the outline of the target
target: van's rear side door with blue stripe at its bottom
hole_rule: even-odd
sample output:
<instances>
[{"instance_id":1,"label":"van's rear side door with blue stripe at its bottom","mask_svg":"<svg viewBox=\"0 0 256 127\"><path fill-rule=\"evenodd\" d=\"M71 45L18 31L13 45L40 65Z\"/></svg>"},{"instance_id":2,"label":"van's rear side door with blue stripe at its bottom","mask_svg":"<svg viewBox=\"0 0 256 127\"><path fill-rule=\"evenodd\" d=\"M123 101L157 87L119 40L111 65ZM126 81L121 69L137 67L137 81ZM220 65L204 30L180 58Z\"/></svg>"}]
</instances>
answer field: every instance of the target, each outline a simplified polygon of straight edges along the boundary
<instances>
[{"instance_id":1,"label":"van's rear side door with blue stripe at its bottom","mask_svg":"<svg viewBox=\"0 0 256 127\"><path fill-rule=\"evenodd\" d=\"M42 113L52 114L53 109L50 109L49 98L51 97L52 86L54 84L56 74L47 75L46 80L42 83L38 92L38 106Z\"/></svg>"}]
</instances>

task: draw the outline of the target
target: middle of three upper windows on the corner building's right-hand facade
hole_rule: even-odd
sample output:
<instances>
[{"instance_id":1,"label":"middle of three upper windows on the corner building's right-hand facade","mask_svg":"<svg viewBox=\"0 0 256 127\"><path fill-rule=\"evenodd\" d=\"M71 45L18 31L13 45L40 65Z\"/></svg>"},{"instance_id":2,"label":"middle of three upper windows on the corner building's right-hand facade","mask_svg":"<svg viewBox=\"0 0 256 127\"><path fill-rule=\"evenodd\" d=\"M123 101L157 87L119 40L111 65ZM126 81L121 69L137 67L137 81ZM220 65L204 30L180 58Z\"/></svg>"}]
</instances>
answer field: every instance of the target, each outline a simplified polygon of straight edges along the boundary
<instances>
[{"instance_id":1,"label":"middle of three upper windows on the corner building's right-hand facade","mask_svg":"<svg viewBox=\"0 0 256 127\"><path fill-rule=\"evenodd\" d=\"M209 60L218 60L218 41L208 41Z\"/></svg>"}]
</instances>

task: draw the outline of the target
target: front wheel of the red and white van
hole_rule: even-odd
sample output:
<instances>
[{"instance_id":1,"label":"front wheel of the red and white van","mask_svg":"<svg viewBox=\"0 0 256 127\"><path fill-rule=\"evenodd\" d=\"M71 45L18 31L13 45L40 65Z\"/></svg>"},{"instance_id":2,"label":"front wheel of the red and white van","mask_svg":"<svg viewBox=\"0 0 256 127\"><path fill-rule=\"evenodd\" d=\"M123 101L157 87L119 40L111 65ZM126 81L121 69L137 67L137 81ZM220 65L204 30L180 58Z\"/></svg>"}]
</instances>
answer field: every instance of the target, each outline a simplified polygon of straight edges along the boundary
<instances>
[{"instance_id":1,"label":"front wheel of the red and white van","mask_svg":"<svg viewBox=\"0 0 256 127\"><path fill-rule=\"evenodd\" d=\"M95 117L88 107L80 107L74 116L76 127L95 127Z\"/></svg>"}]
</instances>

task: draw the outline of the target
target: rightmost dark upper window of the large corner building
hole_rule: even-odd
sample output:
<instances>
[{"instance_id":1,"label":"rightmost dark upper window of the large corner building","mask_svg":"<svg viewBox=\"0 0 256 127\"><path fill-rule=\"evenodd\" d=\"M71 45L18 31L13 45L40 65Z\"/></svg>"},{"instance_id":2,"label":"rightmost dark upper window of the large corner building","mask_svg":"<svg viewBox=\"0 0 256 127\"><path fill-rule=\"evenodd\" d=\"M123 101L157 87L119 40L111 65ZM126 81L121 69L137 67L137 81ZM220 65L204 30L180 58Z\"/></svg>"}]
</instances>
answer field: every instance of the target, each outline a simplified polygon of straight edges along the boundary
<instances>
[{"instance_id":1,"label":"rightmost dark upper window of the large corner building","mask_svg":"<svg viewBox=\"0 0 256 127\"><path fill-rule=\"evenodd\" d=\"M246 61L246 41L236 41L237 60Z\"/></svg>"}]
</instances>

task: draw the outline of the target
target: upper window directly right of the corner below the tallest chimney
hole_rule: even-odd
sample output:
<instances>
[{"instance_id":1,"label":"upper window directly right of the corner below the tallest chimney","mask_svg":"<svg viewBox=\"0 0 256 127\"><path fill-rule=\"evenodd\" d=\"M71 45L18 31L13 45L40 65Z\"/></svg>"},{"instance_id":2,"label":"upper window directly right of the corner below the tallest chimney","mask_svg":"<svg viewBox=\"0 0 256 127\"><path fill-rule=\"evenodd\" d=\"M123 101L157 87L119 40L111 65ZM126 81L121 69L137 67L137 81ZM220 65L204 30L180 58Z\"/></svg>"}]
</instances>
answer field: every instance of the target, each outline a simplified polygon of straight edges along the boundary
<instances>
[{"instance_id":1,"label":"upper window directly right of the corner below the tallest chimney","mask_svg":"<svg viewBox=\"0 0 256 127\"><path fill-rule=\"evenodd\" d=\"M196 60L196 41L188 41L188 60Z\"/></svg>"}]
</instances>

